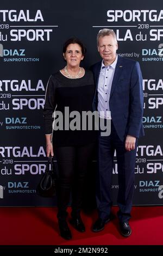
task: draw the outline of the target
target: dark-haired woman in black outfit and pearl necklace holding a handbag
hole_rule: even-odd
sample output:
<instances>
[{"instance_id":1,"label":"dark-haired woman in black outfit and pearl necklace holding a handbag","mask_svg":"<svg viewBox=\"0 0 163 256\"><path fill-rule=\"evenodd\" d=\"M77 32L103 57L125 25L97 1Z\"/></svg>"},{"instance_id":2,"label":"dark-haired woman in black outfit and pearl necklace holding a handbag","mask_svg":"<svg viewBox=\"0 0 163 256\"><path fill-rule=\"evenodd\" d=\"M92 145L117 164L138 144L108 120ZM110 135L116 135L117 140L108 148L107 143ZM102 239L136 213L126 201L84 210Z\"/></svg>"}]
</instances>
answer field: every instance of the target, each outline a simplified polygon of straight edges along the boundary
<instances>
[{"instance_id":1,"label":"dark-haired woman in black outfit and pearl necklace holding a handbag","mask_svg":"<svg viewBox=\"0 0 163 256\"><path fill-rule=\"evenodd\" d=\"M70 222L78 231L85 231L84 223L80 217L82 193L86 169L96 140L94 131L82 130L81 127L79 129L82 113L92 111L94 90L91 71L80 67L85 52L84 45L78 39L72 38L65 42L63 56L67 64L64 69L49 78L43 110L47 156L50 154L53 156L55 153L59 170L57 215L59 229L61 236L67 240L72 238L66 221L66 209L70 201L71 191L72 218ZM52 138L54 110L55 113L62 113L60 120L63 123L61 121L59 126L55 125ZM67 113L70 114L70 117L67 116ZM74 115L78 113L80 116L78 115L74 121ZM67 127L67 120L70 127Z\"/></svg>"}]
</instances>

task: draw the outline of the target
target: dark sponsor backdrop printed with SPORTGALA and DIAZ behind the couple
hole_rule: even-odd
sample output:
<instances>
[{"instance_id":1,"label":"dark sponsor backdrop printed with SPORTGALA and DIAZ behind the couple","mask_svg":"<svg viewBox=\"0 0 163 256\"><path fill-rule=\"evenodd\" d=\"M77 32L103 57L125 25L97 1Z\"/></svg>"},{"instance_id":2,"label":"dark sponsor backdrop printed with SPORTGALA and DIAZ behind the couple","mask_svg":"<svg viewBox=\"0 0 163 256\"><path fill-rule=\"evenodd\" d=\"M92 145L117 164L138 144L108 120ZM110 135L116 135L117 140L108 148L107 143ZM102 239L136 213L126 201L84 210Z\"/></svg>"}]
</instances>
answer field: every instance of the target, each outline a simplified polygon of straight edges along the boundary
<instances>
[{"instance_id":1,"label":"dark sponsor backdrop printed with SPORTGALA and DIAZ behind the couple","mask_svg":"<svg viewBox=\"0 0 163 256\"><path fill-rule=\"evenodd\" d=\"M119 44L118 54L138 60L142 69L146 136L139 140L137 147L134 204L162 204L161 7L161 0L148 3L142 0L1 1L1 206L56 205L56 198L40 198L35 193L47 162L42 118L47 81L52 72L65 66L62 44L71 36L77 36L87 47L83 65L89 68L97 62L100 57L96 35L102 28L114 29ZM92 191L95 189L92 185L95 170L96 159L87 178ZM115 158L114 203L117 190Z\"/></svg>"}]
</instances>

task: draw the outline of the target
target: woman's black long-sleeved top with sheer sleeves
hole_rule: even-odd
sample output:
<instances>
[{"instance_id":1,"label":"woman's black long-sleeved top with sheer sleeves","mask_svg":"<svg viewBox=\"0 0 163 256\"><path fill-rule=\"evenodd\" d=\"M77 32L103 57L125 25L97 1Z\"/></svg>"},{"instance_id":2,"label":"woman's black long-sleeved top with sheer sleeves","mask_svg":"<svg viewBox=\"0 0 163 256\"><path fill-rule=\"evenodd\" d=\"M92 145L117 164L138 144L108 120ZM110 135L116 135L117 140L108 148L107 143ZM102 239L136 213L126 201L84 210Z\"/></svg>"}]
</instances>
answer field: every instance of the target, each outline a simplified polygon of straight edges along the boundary
<instances>
[{"instance_id":1,"label":"woman's black long-sleeved top with sheer sleeves","mask_svg":"<svg viewBox=\"0 0 163 256\"><path fill-rule=\"evenodd\" d=\"M51 75L46 90L43 117L45 119L45 133L51 134L53 131L54 110L56 114L58 111L62 113L62 119L59 119L59 115L55 114L55 126L59 126L60 124L60 130L54 129L53 131L54 145L64 147L84 145L96 141L97 132L95 129L88 130L84 123L85 130L82 130L82 122L84 120L82 119L82 113L84 114L87 111L92 112L93 94L94 82L93 74L90 70L85 70L85 75L76 79L67 78L60 71ZM80 119L78 122L76 122L77 112L72 111L79 112L80 115L78 117L80 116ZM57 120L62 120L62 122L58 123ZM88 125L88 119L85 120ZM89 121L91 121L90 118ZM70 125L73 127L76 126L74 127L75 130L71 130Z\"/></svg>"}]
</instances>

